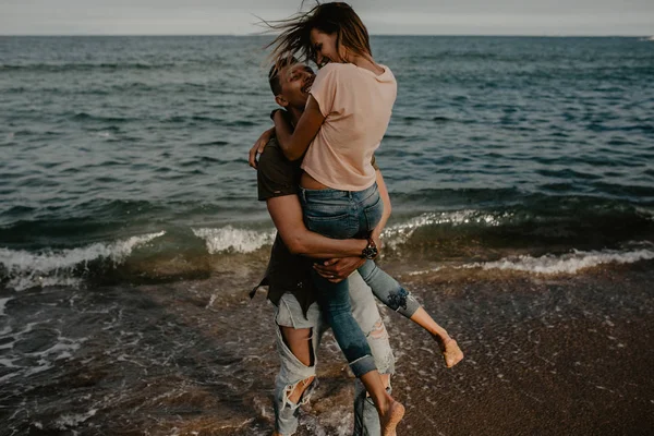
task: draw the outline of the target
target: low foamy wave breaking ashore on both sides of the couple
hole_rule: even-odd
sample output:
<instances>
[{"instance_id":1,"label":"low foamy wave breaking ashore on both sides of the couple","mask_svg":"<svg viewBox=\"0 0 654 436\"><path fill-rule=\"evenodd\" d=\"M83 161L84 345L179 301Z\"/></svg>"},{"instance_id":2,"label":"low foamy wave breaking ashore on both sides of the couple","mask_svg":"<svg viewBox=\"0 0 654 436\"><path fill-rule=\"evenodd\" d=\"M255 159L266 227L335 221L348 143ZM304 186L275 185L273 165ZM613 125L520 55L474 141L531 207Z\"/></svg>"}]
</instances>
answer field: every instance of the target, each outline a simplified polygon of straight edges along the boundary
<instances>
[{"instance_id":1,"label":"low foamy wave breaking ashore on both sides of the couple","mask_svg":"<svg viewBox=\"0 0 654 436\"><path fill-rule=\"evenodd\" d=\"M569 204L565 207L566 214L561 209L550 210L550 215L520 207L411 213L385 229L382 234L384 253L391 262L411 262L414 256L426 256L434 262L457 265L476 261L476 264L464 264L471 268L542 274L574 272L601 263L650 258L647 256L654 253L652 246L635 250L629 245L631 251L627 254L623 251L596 251L625 247L627 241L652 240L654 235L654 215L650 208L618 206L593 204L590 211L584 211L579 203ZM559 204L559 207L562 206ZM256 226L169 226L157 233L129 239L116 237L116 242L83 245L84 238L78 238L77 243L83 246L75 249L69 249L70 245L35 249L29 240L16 240L13 250L0 249L0 286L23 290L44 286L76 287L84 281L159 282L208 277L213 270L210 265L234 261L252 261L253 265L258 265L262 262L262 249L272 244L276 231L270 223ZM32 235L39 230L34 223L25 223L23 228ZM59 226L57 230L71 235L73 228L83 235L89 234L87 230L94 230L84 228L78 221L66 221L65 229ZM0 229L0 237L15 234L17 229L16 226ZM165 233L167 237L153 246L133 254L134 247ZM51 239L58 240L62 238ZM564 256L530 256L566 250L576 251ZM506 257L508 253L524 256ZM501 261L495 261L502 256Z\"/></svg>"}]
</instances>

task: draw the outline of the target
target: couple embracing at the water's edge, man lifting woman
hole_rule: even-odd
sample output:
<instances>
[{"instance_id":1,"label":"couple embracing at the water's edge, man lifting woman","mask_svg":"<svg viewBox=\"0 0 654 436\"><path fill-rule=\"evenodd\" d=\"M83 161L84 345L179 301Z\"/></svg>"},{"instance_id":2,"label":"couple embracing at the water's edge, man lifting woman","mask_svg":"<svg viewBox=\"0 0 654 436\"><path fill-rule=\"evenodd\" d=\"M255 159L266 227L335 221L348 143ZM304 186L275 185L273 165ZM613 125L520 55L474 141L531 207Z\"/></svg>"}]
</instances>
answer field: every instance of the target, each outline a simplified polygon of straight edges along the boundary
<instances>
[{"instance_id":1,"label":"couple embracing at the water's edge, man lifting woman","mask_svg":"<svg viewBox=\"0 0 654 436\"><path fill-rule=\"evenodd\" d=\"M447 366L463 358L447 331L374 262L390 215L374 153L397 83L373 59L367 31L347 3L318 4L271 27L280 34L271 43L268 80L283 110L271 113L275 128L251 149L250 164L278 230L261 283L276 305L281 361L274 435L295 432L298 408L317 382L320 335L331 327L358 380L354 434L392 436L404 407L390 395L393 358L372 294L427 330ZM315 62L317 74L296 57Z\"/></svg>"}]
</instances>

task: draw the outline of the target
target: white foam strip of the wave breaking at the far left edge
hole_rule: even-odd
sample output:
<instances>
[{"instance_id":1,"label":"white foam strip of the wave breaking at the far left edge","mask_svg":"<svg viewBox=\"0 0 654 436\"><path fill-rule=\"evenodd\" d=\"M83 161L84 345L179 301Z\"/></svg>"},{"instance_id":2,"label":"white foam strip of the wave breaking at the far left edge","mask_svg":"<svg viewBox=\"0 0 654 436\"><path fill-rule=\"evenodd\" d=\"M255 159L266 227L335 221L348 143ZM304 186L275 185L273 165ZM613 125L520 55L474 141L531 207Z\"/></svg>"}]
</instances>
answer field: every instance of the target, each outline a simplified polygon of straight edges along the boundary
<instances>
[{"instance_id":1,"label":"white foam strip of the wave breaking at the far left edge","mask_svg":"<svg viewBox=\"0 0 654 436\"><path fill-rule=\"evenodd\" d=\"M77 249L31 253L0 249L0 264L9 272L9 288L24 290L35 286L76 286L80 279L72 276L78 265L87 267L88 262L108 258L114 264L122 263L132 251L155 238L166 234L165 231L128 238L111 243L97 242Z\"/></svg>"}]
</instances>

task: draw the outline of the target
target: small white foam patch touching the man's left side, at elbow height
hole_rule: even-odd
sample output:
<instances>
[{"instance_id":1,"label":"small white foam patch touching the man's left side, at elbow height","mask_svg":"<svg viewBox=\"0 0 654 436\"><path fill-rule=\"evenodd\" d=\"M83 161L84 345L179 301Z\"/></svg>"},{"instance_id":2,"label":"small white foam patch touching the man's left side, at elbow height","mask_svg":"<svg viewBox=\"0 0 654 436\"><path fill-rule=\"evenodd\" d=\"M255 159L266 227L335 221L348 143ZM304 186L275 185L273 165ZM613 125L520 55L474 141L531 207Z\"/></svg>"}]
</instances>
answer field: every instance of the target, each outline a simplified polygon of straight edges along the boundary
<instances>
[{"instance_id":1,"label":"small white foam patch touching the man's left side, at elbow height","mask_svg":"<svg viewBox=\"0 0 654 436\"><path fill-rule=\"evenodd\" d=\"M232 226L220 229L192 229L197 238L205 240L209 254L221 252L252 253L275 240L275 231L237 229Z\"/></svg>"}]
</instances>

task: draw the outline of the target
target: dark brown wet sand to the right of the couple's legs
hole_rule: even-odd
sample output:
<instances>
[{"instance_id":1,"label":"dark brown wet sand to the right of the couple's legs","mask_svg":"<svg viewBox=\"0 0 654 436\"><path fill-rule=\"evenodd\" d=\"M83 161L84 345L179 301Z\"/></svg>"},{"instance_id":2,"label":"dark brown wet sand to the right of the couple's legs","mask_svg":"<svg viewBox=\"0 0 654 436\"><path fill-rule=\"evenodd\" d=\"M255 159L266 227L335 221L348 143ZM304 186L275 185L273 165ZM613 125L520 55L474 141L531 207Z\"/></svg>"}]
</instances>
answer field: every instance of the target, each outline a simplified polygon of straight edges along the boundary
<instances>
[{"instance_id":1,"label":"dark brown wet sand to the right of the couple's legs","mask_svg":"<svg viewBox=\"0 0 654 436\"><path fill-rule=\"evenodd\" d=\"M654 434L652 278L643 263L572 278L425 280L435 291L422 293L425 305L467 360L425 371L408 358L428 342L409 329L396 377L409 407L400 434Z\"/></svg>"}]
</instances>

